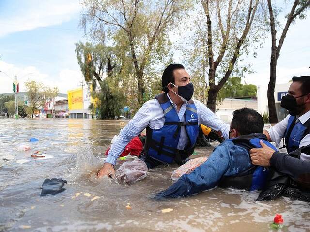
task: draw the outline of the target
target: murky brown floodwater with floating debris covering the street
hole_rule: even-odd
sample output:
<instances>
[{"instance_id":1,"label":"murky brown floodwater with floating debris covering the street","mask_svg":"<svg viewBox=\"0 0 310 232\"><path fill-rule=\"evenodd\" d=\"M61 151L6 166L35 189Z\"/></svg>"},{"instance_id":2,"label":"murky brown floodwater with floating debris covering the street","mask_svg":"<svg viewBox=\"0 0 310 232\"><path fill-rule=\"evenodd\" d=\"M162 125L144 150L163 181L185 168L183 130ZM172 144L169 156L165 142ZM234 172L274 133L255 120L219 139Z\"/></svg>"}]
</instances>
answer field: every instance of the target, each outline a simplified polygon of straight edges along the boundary
<instances>
[{"instance_id":1,"label":"murky brown floodwater with floating debris covering the street","mask_svg":"<svg viewBox=\"0 0 310 232\"><path fill-rule=\"evenodd\" d=\"M103 158L122 127L120 121L0 119L0 231L272 231L276 213L284 218L282 231L310 230L310 203L286 197L259 203L258 192L216 188L187 198L152 199L171 185L173 165L149 170L130 186L96 179L82 165L91 157L83 159L81 151L90 147ZM33 137L39 141L27 142ZM30 144L31 151L18 151L20 143ZM37 150L53 157L16 163ZM193 157L208 156L212 148L197 151ZM66 190L40 197L44 179L53 177L67 180ZM162 213L166 208L173 211Z\"/></svg>"}]
</instances>

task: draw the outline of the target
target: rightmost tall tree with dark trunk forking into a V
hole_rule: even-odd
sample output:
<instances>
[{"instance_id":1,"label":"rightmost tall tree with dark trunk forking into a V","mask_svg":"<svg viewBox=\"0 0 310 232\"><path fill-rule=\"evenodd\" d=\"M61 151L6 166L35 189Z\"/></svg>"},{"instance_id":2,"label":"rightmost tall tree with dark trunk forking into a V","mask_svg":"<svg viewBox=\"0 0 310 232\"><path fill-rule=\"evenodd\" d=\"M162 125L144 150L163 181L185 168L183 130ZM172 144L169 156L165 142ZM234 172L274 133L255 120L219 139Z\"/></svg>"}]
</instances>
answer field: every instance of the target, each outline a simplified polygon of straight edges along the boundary
<instances>
[{"instance_id":1,"label":"rightmost tall tree with dark trunk forking into a V","mask_svg":"<svg viewBox=\"0 0 310 232\"><path fill-rule=\"evenodd\" d=\"M289 30L290 25L294 20L299 16L299 18L305 18L303 12L309 8L310 0L294 0L291 11L288 15L286 15L286 23L283 28L282 34L279 39L279 43L277 45L277 30L276 23L277 20L275 18L275 10L274 5L271 0L267 0L268 2L268 11L269 11L269 19L270 19L270 31L271 31L271 57L270 57L270 80L268 84L267 97L268 97L268 109L269 109L269 120L270 123L277 123L277 111L275 104L274 91L276 86L276 77L277 77L277 61L280 55L281 48L283 46L284 39L286 37L287 31Z\"/></svg>"}]
</instances>

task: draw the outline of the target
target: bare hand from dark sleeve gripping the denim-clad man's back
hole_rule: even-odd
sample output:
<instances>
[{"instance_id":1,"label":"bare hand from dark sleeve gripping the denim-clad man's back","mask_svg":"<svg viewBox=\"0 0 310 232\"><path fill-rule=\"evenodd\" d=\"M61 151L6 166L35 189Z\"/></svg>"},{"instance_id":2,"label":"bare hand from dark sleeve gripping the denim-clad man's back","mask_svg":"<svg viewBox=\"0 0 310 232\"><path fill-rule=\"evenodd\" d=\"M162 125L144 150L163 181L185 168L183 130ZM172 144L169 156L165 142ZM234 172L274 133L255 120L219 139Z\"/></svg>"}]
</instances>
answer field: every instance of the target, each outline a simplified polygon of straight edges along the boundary
<instances>
[{"instance_id":1,"label":"bare hand from dark sleeve gripping the denim-clad man's back","mask_svg":"<svg viewBox=\"0 0 310 232\"><path fill-rule=\"evenodd\" d=\"M264 144L262 140L260 141L260 144L262 145L262 148L252 148L250 150L252 164L269 167L271 156L274 154L275 150Z\"/></svg>"}]
</instances>

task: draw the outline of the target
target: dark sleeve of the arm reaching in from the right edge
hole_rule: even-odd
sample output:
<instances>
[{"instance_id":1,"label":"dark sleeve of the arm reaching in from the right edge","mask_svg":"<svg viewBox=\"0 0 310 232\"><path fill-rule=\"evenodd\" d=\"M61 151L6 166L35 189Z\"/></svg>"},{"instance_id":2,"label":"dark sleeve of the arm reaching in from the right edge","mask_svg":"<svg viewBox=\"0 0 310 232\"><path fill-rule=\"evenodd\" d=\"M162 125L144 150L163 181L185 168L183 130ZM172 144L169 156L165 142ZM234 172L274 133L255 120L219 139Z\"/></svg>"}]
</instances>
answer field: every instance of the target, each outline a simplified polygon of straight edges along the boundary
<instances>
[{"instance_id":1,"label":"dark sleeve of the arm reaching in from the right edge","mask_svg":"<svg viewBox=\"0 0 310 232\"><path fill-rule=\"evenodd\" d=\"M271 156L270 165L297 182L310 184L310 161L300 160L286 153L275 152Z\"/></svg>"}]
</instances>

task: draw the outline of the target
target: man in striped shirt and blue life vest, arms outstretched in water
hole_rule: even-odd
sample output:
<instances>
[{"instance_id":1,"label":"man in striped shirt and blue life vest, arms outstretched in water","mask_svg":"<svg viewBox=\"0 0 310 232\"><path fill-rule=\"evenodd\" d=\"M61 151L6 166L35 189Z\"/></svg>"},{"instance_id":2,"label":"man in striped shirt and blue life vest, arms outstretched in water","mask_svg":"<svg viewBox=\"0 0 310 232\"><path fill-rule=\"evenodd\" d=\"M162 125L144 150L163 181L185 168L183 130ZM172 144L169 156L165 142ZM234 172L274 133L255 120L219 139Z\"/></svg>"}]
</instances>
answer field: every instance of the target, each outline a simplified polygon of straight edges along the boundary
<instances>
[{"instance_id":1,"label":"man in striped shirt and blue life vest, arms outstretched in water","mask_svg":"<svg viewBox=\"0 0 310 232\"><path fill-rule=\"evenodd\" d=\"M105 164L98 172L98 177L114 174L116 160L125 146L145 128L146 141L140 158L148 168L163 163L185 163L194 151L200 124L221 131L224 139L228 139L229 125L218 119L200 101L191 99L194 87L183 65L168 65L161 83L165 93L144 103L121 130L109 150Z\"/></svg>"}]
</instances>

